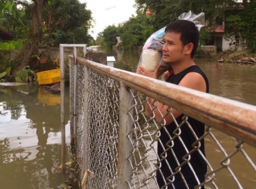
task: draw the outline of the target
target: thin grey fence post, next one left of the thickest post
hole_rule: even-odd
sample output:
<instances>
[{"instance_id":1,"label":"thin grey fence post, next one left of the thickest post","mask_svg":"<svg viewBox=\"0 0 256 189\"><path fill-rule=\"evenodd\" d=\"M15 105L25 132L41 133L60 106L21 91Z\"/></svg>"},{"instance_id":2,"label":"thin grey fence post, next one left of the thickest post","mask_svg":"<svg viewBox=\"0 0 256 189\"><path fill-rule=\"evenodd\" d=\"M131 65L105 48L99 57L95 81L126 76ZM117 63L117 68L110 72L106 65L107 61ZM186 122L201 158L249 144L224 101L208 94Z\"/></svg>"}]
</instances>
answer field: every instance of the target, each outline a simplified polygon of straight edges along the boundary
<instances>
[{"instance_id":1,"label":"thin grey fence post, next one left of the thickest post","mask_svg":"<svg viewBox=\"0 0 256 189\"><path fill-rule=\"evenodd\" d=\"M84 69L84 88L83 88L83 94L84 94L84 107L83 107L83 171L85 172L88 169L87 166L87 139L88 139L88 86L89 86L89 68L85 67Z\"/></svg>"}]
</instances>

